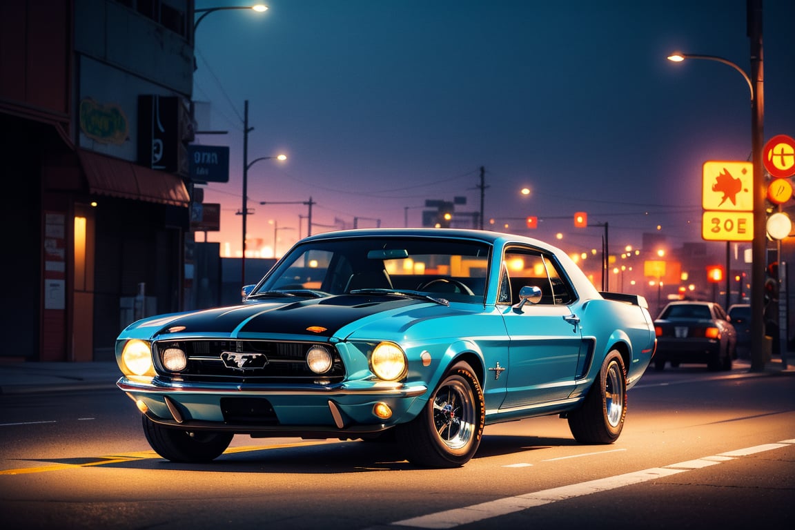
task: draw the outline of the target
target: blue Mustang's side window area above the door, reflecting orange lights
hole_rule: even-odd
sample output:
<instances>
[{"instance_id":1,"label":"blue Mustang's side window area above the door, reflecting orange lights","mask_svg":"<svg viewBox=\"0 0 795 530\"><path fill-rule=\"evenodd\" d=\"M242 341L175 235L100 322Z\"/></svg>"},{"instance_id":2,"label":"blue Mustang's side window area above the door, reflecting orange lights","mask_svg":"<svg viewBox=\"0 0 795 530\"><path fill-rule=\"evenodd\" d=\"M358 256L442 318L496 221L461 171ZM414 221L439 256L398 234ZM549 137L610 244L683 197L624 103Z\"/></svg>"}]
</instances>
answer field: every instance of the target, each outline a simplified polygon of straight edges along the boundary
<instances>
[{"instance_id":1,"label":"blue Mustang's side window area above the door, reflecting orange lights","mask_svg":"<svg viewBox=\"0 0 795 530\"><path fill-rule=\"evenodd\" d=\"M525 285L541 288L540 304L570 304L574 293L551 257L539 250L510 248L503 257L503 276L510 284L511 304L517 304ZM502 292L502 289L501 289Z\"/></svg>"}]
</instances>

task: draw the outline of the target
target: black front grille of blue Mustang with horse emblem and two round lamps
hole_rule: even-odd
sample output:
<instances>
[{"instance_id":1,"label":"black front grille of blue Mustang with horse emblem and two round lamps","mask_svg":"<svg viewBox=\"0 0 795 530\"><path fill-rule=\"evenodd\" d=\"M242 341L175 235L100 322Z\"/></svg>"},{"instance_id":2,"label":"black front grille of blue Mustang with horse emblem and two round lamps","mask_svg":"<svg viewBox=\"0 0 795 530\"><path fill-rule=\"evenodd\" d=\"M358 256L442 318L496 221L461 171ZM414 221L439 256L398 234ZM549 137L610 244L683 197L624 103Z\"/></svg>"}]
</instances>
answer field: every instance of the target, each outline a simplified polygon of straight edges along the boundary
<instances>
[{"instance_id":1,"label":"black front grille of blue Mustang with horse emblem and two round lamps","mask_svg":"<svg viewBox=\"0 0 795 530\"><path fill-rule=\"evenodd\" d=\"M306 352L312 346L324 346L332 354L332 369L312 372L306 364ZM277 342L262 340L180 340L154 344L158 373L181 381L311 383L342 381L345 374L342 358L334 346L319 342ZM162 353L169 348L184 350L188 366L180 372L163 368Z\"/></svg>"}]
</instances>

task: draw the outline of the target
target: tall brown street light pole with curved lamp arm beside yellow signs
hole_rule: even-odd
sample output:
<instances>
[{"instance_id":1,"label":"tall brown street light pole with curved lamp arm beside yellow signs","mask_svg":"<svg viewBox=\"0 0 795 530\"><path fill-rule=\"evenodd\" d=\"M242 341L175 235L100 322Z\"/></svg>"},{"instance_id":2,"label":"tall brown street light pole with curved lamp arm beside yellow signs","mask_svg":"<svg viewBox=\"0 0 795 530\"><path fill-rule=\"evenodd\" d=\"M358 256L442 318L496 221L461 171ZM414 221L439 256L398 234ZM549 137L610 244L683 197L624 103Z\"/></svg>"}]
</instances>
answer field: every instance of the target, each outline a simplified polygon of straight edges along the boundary
<instances>
[{"instance_id":1,"label":"tall brown street light pole with curved lamp arm beside yellow signs","mask_svg":"<svg viewBox=\"0 0 795 530\"><path fill-rule=\"evenodd\" d=\"M750 89L751 107L751 157L754 167L753 178L753 219L754 239L751 243L751 284L750 284L750 371L758 372L765 368L766 355L762 345L765 343L765 269L767 261L767 230L765 198L767 187L762 162L762 146L764 139L763 123L765 118L765 99L762 80L762 0L747 0L748 6L748 37L750 39L750 72L751 75L730 60L716 56L692 55L679 53L669 56L669 60L681 62L685 59L715 60L727 64L743 75Z\"/></svg>"}]
</instances>

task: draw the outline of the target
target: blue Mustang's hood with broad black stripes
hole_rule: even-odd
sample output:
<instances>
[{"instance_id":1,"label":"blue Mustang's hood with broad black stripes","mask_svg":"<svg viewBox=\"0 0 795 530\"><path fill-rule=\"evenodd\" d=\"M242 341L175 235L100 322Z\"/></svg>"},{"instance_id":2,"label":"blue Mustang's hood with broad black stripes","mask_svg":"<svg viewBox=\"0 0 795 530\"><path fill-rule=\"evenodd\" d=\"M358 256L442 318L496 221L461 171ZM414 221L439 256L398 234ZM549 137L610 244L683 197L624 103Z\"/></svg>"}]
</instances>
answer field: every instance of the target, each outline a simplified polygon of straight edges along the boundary
<instances>
[{"instance_id":1,"label":"blue Mustang's hood with broad black stripes","mask_svg":"<svg viewBox=\"0 0 795 530\"><path fill-rule=\"evenodd\" d=\"M129 338L157 335L237 337L251 334L315 335L332 337L340 328L372 315L379 318L415 306L450 308L425 300L396 295L340 295L321 299L258 302L229 308L214 308L173 315L160 315L130 324ZM364 322L362 322L364 324Z\"/></svg>"}]
</instances>

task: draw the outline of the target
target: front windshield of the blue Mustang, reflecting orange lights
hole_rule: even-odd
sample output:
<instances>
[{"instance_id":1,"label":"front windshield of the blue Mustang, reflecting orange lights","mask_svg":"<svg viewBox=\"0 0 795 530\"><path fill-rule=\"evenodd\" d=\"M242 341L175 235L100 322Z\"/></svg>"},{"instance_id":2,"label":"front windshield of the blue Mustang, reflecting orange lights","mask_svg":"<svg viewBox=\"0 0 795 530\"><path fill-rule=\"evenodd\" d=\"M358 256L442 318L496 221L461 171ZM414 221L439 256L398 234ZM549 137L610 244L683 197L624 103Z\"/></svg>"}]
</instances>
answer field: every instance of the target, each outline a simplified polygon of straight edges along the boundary
<instances>
[{"instance_id":1,"label":"front windshield of the blue Mustang, reflecting orange lights","mask_svg":"<svg viewBox=\"0 0 795 530\"><path fill-rule=\"evenodd\" d=\"M491 246L432 238L349 238L306 242L290 251L250 296L302 292L421 292L482 302Z\"/></svg>"}]
</instances>

